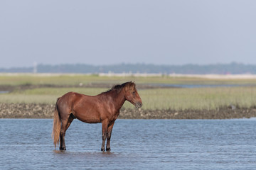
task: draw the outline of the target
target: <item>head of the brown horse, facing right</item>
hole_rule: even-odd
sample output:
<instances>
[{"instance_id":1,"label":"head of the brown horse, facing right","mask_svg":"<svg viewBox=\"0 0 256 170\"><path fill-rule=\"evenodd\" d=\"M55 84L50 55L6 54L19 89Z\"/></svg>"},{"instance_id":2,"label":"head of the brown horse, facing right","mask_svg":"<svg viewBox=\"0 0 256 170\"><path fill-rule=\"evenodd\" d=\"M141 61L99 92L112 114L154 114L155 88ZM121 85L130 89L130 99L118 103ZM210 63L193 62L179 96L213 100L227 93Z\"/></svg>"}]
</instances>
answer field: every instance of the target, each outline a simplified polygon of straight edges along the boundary
<instances>
[{"instance_id":1,"label":"head of the brown horse, facing right","mask_svg":"<svg viewBox=\"0 0 256 170\"><path fill-rule=\"evenodd\" d=\"M136 108L141 108L142 99L138 94L135 84L132 81L127 82L124 88L125 88L125 94L124 94L125 99L131 102Z\"/></svg>"}]
</instances>

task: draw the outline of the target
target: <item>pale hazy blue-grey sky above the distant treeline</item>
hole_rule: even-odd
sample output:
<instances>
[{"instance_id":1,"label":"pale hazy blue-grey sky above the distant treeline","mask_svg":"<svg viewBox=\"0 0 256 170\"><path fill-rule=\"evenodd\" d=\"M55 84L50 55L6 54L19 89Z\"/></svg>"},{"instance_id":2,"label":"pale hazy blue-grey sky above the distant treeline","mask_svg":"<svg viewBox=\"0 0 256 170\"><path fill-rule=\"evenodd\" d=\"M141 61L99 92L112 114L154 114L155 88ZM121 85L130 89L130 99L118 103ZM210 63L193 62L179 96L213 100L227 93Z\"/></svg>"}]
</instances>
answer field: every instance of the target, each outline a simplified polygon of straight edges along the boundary
<instances>
[{"instance_id":1,"label":"pale hazy blue-grey sky above the distant treeline","mask_svg":"<svg viewBox=\"0 0 256 170\"><path fill-rule=\"evenodd\" d=\"M0 1L0 67L256 64L255 0Z\"/></svg>"}]
</instances>

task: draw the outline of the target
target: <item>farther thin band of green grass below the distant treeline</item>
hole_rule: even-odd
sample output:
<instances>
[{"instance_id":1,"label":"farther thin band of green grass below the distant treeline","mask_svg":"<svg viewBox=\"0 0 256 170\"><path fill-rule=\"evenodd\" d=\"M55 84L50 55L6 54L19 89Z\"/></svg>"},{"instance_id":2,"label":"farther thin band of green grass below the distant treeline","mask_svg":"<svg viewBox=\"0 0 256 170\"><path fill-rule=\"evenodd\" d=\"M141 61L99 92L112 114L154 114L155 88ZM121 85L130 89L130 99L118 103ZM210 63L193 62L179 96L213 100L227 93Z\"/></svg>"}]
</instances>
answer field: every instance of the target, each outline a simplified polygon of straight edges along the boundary
<instances>
[{"instance_id":1,"label":"farther thin band of green grass below the distant treeline","mask_svg":"<svg viewBox=\"0 0 256 170\"><path fill-rule=\"evenodd\" d=\"M255 84L256 79L203 79L193 77L100 77L97 74L0 74L0 85L26 84L78 85L90 83L119 84L135 81L137 84Z\"/></svg>"}]
</instances>

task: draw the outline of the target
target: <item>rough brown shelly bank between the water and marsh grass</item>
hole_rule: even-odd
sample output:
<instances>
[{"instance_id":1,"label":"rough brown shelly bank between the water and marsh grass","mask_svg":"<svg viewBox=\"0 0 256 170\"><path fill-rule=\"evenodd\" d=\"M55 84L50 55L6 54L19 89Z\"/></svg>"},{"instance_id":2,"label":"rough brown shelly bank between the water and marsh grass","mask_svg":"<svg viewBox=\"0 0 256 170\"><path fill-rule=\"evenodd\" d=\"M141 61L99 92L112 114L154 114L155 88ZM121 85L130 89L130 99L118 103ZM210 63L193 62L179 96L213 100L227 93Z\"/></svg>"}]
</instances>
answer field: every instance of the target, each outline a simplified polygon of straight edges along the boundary
<instances>
[{"instance_id":1,"label":"rough brown shelly bank between the water and marsh grass","mask_svg":"<svg viewBox=\"0 0 256 170\"><path fill-rule=\"evenodd\" d=\"M0 118L53 118L55 106L34 103L0 103ZM124 109L120 119L231 119L256 117L256 108L219 108L216 110Z\"/></svg>"}]
</instances>

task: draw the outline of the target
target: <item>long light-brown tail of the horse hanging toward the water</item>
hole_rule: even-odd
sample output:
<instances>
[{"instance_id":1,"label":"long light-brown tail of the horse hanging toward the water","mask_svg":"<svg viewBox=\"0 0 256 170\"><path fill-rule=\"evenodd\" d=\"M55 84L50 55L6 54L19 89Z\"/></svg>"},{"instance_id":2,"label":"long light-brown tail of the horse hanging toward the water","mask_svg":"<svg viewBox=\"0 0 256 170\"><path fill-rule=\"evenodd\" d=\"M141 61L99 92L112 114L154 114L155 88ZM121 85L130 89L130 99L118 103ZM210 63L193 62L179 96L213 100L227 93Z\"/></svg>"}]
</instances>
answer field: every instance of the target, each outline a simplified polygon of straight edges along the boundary
<instances>
[{"instance_id":1,"label":"long light-brown tail of the horse hanging toward the water","mask_svg":"<svg viewBox=\"0 0 256 170\"><path fill-rule=\"evenodd\" d=\"M58 142L60 141L60 115L58 112L58 100L57 99L56 104L55 104L55 111L53 115L53 132L52 132L52 138L53 138L53 144L56 147Z\"/></svg>"}]
</instances>

